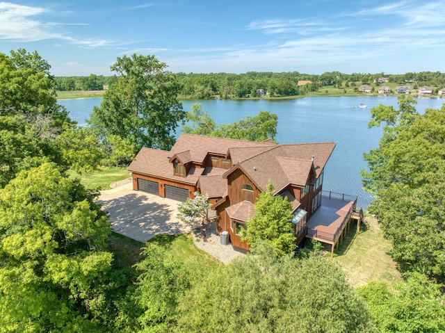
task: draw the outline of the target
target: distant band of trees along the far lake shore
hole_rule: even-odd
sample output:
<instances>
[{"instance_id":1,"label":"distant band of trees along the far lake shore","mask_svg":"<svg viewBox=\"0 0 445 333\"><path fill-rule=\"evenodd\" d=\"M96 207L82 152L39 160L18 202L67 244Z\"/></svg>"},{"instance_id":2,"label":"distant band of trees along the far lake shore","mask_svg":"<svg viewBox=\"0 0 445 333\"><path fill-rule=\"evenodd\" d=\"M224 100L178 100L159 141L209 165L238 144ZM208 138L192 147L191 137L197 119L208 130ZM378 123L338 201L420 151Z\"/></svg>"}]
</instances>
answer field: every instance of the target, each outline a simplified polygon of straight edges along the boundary
<instances>
[{"instance_id":1,"label":"distant band of trees along the far lake shore","mask_svg":"<svg viewBox=\"0 0 445 333\"><path fill-rule=\"evenodd\" d=\"M179 95L184 98L245 98L269 96L298 96L316 92L327 86L348 88L356 83L373 83L385 77L391 83L400 85L414 84L414 89L421 86L432 86L438 89L445 87L445 73L441 72L408 72L405 74L344 74L325 72L321 75L300 74L299 72L247 72L243 74L209 73L195 74L180 72L176 74L180 84ZM118 76L57 76L56 90L103 90L118 81ZM298 86L298 81L311 83ZM379 84L379 83L378 83ZM385 83L382 83L385 84Z\"/></svg>"}]
</instances>

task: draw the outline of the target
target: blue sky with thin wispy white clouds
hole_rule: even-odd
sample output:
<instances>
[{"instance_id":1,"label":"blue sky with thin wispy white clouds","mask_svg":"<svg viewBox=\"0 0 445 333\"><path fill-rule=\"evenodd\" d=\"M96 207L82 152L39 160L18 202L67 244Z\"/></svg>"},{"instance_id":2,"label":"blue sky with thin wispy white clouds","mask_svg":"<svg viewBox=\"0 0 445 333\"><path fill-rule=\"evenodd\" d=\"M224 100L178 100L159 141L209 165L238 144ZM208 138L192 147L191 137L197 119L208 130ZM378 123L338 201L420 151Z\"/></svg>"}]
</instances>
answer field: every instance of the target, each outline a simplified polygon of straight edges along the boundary
<instances>
[{"instance_id":1,"label":"blue sky with thin wispy white clouds","mask_svg":"<svg viewBox=\"0 0 445 333\"><path fill-rule=\"evenodd\" d=\"M172 72L445 72L445 0L0 1L0 52L56 76L110 75L124 55Z\"/></svg>"}]
</instances>

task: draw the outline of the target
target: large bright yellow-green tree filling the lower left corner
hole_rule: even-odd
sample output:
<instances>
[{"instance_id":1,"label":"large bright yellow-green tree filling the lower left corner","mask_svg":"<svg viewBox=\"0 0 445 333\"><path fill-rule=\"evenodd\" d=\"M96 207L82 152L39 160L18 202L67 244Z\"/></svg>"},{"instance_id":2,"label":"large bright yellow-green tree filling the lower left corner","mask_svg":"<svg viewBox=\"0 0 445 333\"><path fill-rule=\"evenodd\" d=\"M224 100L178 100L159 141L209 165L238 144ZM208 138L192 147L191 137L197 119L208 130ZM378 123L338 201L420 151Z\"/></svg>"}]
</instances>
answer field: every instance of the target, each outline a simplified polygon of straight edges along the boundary
<instances>
[{"instance_id":1,"label":"large bright yellow-green tree filling the lower left corner","mask_svg":"<svg viewBox=\"0 0 445 333\"><path fill-rule=\"evenodd\" d=\"M95 331L103 302L106 214L51 163L0 190L0 332Z\"/></svg>"}]
</instances>

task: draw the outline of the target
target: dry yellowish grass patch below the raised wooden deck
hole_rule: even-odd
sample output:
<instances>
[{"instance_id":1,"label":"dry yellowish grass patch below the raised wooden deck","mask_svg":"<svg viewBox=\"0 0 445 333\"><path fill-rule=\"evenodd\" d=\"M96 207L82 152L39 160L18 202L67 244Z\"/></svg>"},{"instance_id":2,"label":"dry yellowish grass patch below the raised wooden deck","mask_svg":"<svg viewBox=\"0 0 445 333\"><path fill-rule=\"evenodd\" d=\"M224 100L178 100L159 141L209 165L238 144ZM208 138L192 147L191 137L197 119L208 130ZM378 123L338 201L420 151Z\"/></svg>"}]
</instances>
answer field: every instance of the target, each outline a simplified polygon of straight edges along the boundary
<instances>
[{"instance_id":1,"label":"dry yellowish grass patch below the raised wooden deck","mask_svg":"<svg viewBox=\"0 0 445 333\"><path fill-rule=\"evenodd\" d=\"M355 234L356 229L353 223L339 249L334 252L333 259L343 268L350 285L356 287L371 281L383 281L392 286L402 282L396 263L389 254L392 245L383 238L377 220L368 216L359 234Z\"/></svg>"}]
</instances>

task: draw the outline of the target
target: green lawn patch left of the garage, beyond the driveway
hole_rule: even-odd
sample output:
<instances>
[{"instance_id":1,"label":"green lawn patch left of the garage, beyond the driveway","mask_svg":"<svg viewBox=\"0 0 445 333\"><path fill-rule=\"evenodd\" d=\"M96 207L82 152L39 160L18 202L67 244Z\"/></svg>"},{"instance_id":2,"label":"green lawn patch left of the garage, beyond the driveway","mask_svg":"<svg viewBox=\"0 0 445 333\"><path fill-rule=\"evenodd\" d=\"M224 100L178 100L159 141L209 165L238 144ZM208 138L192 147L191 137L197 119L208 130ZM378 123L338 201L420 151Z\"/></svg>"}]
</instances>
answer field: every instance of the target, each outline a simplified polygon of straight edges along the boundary
<instances>
[{"instance_id":1,"label":"green lawn patch left of the garage, beyond the driveway","mask_svg":"<svg viewBox=\"0 0 445 333\"><path fill-rule=\"evenodd\" d=\"M129 177L127 168L101 168L99 170L78 174L74 170L69 170L70 178L80 178L81 184L90 190L108 190L110 184Z\"/></svg>"}]
</instances>

